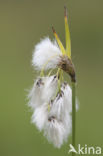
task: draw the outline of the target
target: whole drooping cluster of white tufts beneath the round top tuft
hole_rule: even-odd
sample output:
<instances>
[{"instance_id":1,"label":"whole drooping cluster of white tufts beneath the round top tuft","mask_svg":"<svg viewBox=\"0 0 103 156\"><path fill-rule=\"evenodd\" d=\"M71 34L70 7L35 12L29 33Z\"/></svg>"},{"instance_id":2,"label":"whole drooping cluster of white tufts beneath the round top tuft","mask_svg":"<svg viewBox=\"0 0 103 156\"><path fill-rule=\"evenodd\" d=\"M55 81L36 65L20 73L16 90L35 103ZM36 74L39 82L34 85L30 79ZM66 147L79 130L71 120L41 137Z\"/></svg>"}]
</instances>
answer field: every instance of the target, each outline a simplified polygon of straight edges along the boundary
<instances>
[{"instance_id":1,"label":"whole drooping cluster of white tufts beneath the round top tuft","mask_svg":"<svg viewBox=\"0 0 103 156\"><path fill-rule=\"evenodd\" d=\"M62 83L60 93L54 98L57 87L56 75L38 78L29 94L29 106L33 110L32 123L60 148L71 133L72 91L67 83Z\"/></svg>"}]
</instances>

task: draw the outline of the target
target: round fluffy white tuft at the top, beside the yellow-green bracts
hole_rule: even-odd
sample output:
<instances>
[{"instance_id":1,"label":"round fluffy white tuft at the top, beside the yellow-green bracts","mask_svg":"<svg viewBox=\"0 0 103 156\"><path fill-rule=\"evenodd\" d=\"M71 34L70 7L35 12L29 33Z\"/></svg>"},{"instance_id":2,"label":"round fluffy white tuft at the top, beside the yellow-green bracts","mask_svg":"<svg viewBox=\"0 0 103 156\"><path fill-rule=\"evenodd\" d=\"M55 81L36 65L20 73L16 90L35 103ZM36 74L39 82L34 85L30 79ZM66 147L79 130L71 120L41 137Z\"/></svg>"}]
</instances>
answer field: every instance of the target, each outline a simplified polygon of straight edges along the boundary
<instances>
[{"instance_id":1,"label":"round fluffy white tuft at the top, beside the yellow-green bracts","mask_svg":"<svg viewBox=\"0 0 103 156\"><path fill-rule=\"evenodd\" d=\"M62 55L56 42L52 42L49 38L43 39L38 43L33 52L32 64L38 69L56 68L60 62Z\"/></svg>"}]
</instances>

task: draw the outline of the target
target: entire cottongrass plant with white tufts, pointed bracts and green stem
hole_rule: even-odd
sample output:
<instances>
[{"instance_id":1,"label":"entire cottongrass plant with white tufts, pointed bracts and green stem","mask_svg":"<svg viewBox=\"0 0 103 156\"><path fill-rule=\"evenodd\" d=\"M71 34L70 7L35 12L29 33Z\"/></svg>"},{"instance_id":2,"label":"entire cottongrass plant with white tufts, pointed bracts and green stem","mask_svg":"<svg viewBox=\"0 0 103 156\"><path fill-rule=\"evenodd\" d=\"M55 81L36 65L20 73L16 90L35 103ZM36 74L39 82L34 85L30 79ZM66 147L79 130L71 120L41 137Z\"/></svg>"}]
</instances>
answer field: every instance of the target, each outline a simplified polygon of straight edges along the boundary
<instances>
[{"instance_id":1,"label":"entire cottongrass plant with white tufts, pointed bracts and green stem","mask_svg":"<svg viewBox=\"0 0 103 156\"><path fill-rule=\"evenodd\" d=\"M32 65L40 76L29 92L29 106L32 108L32 123L55 147L60 148L67 141L72 129L72 145L75 146L75 69L71 60L71 41L65 8L66 49L56 31L55 39L44 38L35 46ZM55 74L53 74L55 72ZM66 72L72 82L64 80ZM46 74L45 74L46 73ZM72 114L72 116L71 116Z\"/></svg>"}]
</instances>

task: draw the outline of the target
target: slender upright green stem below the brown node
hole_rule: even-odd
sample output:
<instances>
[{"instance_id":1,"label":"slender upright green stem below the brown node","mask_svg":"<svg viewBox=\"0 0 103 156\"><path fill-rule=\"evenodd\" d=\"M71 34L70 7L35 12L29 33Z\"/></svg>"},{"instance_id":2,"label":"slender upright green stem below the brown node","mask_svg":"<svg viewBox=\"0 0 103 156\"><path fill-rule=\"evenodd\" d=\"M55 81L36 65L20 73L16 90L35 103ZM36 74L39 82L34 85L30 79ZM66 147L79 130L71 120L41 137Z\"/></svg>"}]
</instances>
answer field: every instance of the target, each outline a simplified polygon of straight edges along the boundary
<instances>
[{"instance_id":1,"label":"slender upright green stem below the brown node","mask_svg":"<svg viewBox=\"0 0 103 156\"><path fill-rule=\"evenodd\" d=\"M72 82L72 145L75 148L75 124L76 124L76 83ZM72 156L75 153L72 152Z\"/></svg>"}]
</instances>

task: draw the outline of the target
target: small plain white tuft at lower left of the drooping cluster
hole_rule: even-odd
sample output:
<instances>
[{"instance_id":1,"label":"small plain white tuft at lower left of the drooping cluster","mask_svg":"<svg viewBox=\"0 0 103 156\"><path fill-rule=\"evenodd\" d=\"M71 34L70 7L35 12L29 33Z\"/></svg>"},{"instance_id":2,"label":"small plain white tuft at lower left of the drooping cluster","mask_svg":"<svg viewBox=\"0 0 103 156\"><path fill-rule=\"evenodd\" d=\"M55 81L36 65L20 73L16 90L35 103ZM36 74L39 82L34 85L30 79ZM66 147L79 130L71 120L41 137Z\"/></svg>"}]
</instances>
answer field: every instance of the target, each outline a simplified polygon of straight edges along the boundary
<instances>
[{"instance_id":1,"label":"small plain white tuft at lower left of the drooping cluster","mask_svg":"<svg viewBox=\"0 0 103 156\"><path fill-rule=\"evenodd\" d=\"M32 115L32 123L41 131L48 120L48 104L37 107Z\"/></svg>"}]
</instances>

